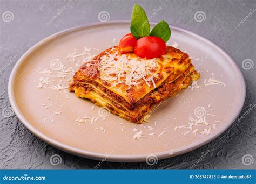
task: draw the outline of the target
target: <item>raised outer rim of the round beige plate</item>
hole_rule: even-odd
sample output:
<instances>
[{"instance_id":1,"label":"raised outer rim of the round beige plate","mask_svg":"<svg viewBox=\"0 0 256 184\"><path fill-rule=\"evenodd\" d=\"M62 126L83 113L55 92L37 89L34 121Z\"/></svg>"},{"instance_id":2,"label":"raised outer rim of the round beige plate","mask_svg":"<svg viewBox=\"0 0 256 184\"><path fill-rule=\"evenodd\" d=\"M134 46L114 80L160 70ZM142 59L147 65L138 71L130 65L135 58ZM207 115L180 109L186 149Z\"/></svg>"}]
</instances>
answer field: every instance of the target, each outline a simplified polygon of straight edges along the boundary
<instances>
[{"instance_id":1,"label":"raised outer rim of the round beige plate","mask_svg":"<svg viewBox=\"0 0 256 184\"><path fill-rule=\"evenodd\" d=\"M51 137L44 135L44 133L42 133L41 131L38 131L34 126L32 126L30 124L30 122L22 115L22 112L19 111L19 108L15 101L14 90L13 90L13 85L14 85L14 81L15 81L15 76L17 74L17 69L23 63L24 58L26 58L26 56L28 56L38 46L43 45L48 40L51 40L58 36L61 36L62 34L65 34L67 32L70 32L73 30L77 31L79 29L85 29L86 27L90 27L90 26L98 26L98 25L103 25L103 24L117 24L117 23L130 23L130 20L113 20L113 21L108 21L105 23L96 22L96 23L91 23L91 24L86 24L86 25L79 25L76 27L71 27L71 28L59 31L57 33L51 34L50 36L42 39L41 41L39 41L38 43L33 45L31 48L28 49L28 51L26 51L21 56L21 58L19 58L19 60L15 64L14 68L12 69L12 72L11 72L10 78L9 78L9 82L8 82L9 102L10 102L11 107L14 110L16 116L18 117L19 121L21 121L22 124L26 127L26 129L28 129L30 132L32 132L33 135L35 135L36 137L45 141L47 144L57 147L59 150L63 150L65 152L69 152L71 154L78 155L79 157L84 157L84 158L89 158L89 159L94 159L94 160L102 160L104 158L104 159L106 159L106 161L113 161L113 162L145 162L147 156L150 154L155 155L157 157L157 159L160 160L160 159L170 158L170 157L174 157L174 156L177 156L180 154L184 154L184 153L196 150L197 148L199 148L203 145L206 145L213 139L220 136L224 131L226 131L231 126L232 123L234 123L235 119L238 117L238 115L240 114L240 112L242 110L242 107L245 102L245 97L246 97L245 79L244 79L244 76L242 75L241 70L238 67L237 63L231 58L231 56L229 54L227 54L222 48L220 48L218 45L214 44L212 41L200 36L199 34L196 34L191 31L187 31L185 29L181 29L179 27L172 26L169 24L169 26L172 27L173 29L190 34L191 36L199 38L200 40L203 40L208 45L211 45L211 46L215 47L216 49L218 49L218 51L221 54L225 55L228 58L228 60L230 61L230 63L232 63L235 70L237 70L235 73L238 74L238 79L239 79L240 86L241 86L242 96L240 97L238 108L234 111L234 115L225 122L225 126L220 131L213 132L212 134L204 137L203 139L196 141L195 143L193 143L189 146L190 148L187 148L187 146L182 146L182 147L173 149L173 151L175 150L174 154L170 154L171 150L169 150L169 151L162 151L162 152L156 152L156 153L150 153L150 154L122 154L122 155L111 154L111 155L109 155L109 154L104 154L104 153L86 151L86 150L82 150L82 149L79 149L76 147L72 147L72 146L63 144L60 141L57 141L55 139L52 139ZM150 22L150 24L156 25L157 23ZM186 148L184 148L184 147L186 147Z\"/></svg>"}]
</instances>

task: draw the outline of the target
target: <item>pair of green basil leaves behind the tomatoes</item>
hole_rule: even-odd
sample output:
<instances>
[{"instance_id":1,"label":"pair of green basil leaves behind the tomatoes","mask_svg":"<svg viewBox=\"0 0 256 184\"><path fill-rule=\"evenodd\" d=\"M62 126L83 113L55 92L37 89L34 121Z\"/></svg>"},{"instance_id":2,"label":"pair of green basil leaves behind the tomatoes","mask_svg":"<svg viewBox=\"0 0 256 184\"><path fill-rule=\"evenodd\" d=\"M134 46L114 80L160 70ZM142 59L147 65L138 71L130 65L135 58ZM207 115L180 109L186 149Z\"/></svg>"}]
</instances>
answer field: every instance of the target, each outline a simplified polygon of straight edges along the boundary
<instances>
[{"instance_id":1,"label":"pair of green basil leaves behind the tomatoes","mask_svg":"<svg viewBox=\"0 0 256 184\"><path fill-rule=\"evenodd\" d=\"M171 29L165 20L161 20L150 32L149 19L147 19L143 8L138 4L134 4L132 9L131 33L136 39L155 36L163 39L165 42L171 37Z\"/></svg>"}]
</instances>

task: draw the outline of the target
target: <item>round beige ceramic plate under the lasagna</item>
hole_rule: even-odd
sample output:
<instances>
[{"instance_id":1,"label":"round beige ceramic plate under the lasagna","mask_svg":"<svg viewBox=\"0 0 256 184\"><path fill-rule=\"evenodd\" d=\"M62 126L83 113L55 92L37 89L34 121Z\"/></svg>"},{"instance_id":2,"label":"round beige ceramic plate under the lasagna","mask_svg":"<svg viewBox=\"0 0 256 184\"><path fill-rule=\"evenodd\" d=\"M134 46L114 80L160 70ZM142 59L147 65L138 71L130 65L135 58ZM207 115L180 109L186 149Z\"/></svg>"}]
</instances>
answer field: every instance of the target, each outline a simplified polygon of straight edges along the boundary
<instances>
[{"instance_id":1,"label":"round beige ceramic plate under the lasagna","mask_svg":"<svg viewBox=\"0 0 256 184\"><path fill-rule=\"evenodd\" d=\"M76 97L68 89L52 90L56 86L68 86L68 79L74 74L72 71L61 74L57 70L60 64L77 70L83 58L117 45L129 32L129 22L76 27L53 34L30 48L10 76L12 108L26 128L46 143L91 159L127 162L163 159L205 145L224 132L239 115L245 100L244 78L235 62L218 46L197 34L171 28L168 44L178 43L179 49L192 57L201 73L198 80L201 88L184 89L178 96L158 105L150 123L139 126L127 122L97 106L92 109L90 101ZM87 48L85 55L79 56L84 47ZM67 58L72 53L72 57L77 57ZM47 79L38 73L43 72L40 68L49 69L46 75L59 77ZM66 77L62 78L63 75ZM225 83L226 87L224 84L207 85L209 78ZM94 117L96 121L91 124L87 119L79 123L85 121L85 116ZM207 123L197 121L200 117L205 117ZM198 125L192 124L191 130L188 123L196 124L196 121ZM196 129L198 131L193 133ZM145 138L133 139L133 130L142 130Z\"/></svg>"}]
</instances>

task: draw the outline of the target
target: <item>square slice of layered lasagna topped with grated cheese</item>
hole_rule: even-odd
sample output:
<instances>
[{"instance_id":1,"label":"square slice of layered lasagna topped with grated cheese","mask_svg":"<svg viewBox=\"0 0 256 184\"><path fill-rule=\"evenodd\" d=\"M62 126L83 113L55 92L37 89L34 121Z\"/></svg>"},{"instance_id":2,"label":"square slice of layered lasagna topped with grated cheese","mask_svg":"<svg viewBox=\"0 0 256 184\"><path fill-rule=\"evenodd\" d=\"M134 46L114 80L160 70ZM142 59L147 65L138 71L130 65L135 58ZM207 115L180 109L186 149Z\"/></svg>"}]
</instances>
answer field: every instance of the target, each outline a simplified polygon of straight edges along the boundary
<instances>
[{"instance_id":1,"label":"square slice of layered lasagna topped with grated cheese","mask_svg":"<svg viewBox=\"0 0 256 184\"><path fill-rule=\"evenodd\" d=\"M142 123L155 105L198 78L189 56L174 47L167 46L159 58L143 59L120 54L114 46L84 63L69 90L114 115Z\"/></svg>"}]
</instances>

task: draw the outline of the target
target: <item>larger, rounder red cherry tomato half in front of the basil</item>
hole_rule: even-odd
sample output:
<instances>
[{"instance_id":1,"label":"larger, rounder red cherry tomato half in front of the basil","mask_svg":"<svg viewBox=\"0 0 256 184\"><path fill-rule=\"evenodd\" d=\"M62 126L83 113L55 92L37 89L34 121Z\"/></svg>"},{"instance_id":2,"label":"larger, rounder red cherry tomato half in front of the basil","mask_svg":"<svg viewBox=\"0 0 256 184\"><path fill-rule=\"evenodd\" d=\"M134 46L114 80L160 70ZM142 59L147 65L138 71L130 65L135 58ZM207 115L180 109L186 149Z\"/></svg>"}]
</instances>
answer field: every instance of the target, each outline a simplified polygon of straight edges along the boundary
<instances>
[{"instance_id":1,"label":"larger, rounder red cherry tomato half in front of the basil","mask_svg":"<svg viewBox=\"0 0 256 184\"><path fill-rule=\"evenodd\" d=\"M136 41L134 53L140 58L157 58L166 52L165 41L161 38L148 36Z\"/></svg>"}]
</instances>

